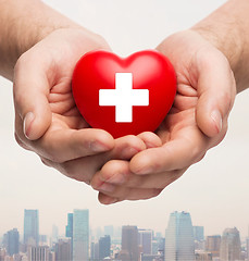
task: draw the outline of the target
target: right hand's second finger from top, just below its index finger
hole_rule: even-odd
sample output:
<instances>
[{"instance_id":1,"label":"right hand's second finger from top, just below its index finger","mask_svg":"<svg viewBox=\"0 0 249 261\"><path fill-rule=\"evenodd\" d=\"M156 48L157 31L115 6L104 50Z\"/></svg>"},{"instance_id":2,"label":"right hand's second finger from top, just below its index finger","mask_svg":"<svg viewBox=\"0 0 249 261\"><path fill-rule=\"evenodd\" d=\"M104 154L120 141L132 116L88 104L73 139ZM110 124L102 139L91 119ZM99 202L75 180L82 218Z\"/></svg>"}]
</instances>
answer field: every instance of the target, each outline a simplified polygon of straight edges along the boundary
<instances>
[{"instance_id":1,"label":"right hand's second finger from top, just below its index finger","mask_svg":"<svg viewBox=\"0 0 249 261\"><path fill-rule=\"evenodd\" d=\"M158 174L150 173L141 176L130 172L129 162L112 160L107 162L103 167L95 174L91 179L91 186L94 189L101 190L105 194L113 194L115 186L128 188L165 188L180 177L186 170L187 169Z\"/></svg>"}]
</instances>

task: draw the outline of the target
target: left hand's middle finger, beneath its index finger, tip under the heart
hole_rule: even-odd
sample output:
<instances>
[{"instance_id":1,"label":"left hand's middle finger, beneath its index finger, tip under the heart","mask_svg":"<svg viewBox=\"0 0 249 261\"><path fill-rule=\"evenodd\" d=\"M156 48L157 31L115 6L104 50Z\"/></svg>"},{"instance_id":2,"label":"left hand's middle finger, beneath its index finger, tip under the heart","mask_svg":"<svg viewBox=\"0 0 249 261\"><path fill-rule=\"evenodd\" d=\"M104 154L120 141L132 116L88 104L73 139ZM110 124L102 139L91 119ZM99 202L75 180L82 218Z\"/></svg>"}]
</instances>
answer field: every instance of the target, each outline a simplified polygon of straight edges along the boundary
<instances>
[{"instance_id":1,"label":"left hand's middle finger, beneath its index finger, tip under the heart","mask_svg":"<svg viewBox=\"0 0 249 261\"><path fill-rule=\"evenodd\" d=\"M76 160L57 163L43 159L46 164L53 166L64 175L79 182L91 181L96 172L111 159L129 160L134 154L145 149L145 144L136 136L126 136L115 140L114 148L104 153L83 157Z\"/></svg>"}]
</instances>

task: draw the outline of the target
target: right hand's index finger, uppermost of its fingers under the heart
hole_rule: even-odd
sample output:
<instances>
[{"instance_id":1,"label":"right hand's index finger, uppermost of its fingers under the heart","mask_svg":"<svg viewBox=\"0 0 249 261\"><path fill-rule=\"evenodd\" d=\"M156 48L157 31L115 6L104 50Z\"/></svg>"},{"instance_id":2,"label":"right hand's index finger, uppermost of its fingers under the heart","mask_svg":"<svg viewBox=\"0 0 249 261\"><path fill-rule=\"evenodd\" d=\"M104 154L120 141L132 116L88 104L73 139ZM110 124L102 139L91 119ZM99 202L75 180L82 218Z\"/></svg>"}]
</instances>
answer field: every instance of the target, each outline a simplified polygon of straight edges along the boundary
<instances>
[{"instance_id":1,"label":"right hand's index finger, uppermost of its fingers under the heart","mask_svg":"<svg viewBox=\"0 0 249 261\"><path fill-rule=\"evenodd\" d=\"M130 161L130 171L145 175L188 167L203 158L211 140L196 126L178 130L175 139L159 148L136 154Z\"/></svg>"}]
</instances>

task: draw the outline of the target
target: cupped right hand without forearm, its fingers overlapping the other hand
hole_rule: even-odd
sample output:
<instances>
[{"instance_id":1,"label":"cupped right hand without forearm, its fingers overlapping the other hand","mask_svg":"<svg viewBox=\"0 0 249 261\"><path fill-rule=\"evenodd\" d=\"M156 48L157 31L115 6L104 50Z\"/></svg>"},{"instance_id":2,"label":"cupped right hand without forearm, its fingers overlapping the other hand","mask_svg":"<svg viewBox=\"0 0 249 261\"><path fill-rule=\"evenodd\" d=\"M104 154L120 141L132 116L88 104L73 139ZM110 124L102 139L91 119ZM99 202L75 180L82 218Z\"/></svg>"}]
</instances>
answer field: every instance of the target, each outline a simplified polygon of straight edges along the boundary
<instances>
[{"instance_id":1,"label":"cupped right hand without forearm, its fingers overlapping the other hand","mask_svg":"<svg viewBox=\"0 0 249 261\"><path fill-rule=\"evenodd\" d=\"M224 54L194 30L175 34L157 49L171 60L177 75L173 108L157 132L162 146L137 153L130 162L108 162L91 181L94 188L113 185L111 192L99 194L102 203L149 198L141 190L146 188L159 195L226 134L236 85ZM139 137L148 139L148 134Z\"/></svg>"}]
</instances>

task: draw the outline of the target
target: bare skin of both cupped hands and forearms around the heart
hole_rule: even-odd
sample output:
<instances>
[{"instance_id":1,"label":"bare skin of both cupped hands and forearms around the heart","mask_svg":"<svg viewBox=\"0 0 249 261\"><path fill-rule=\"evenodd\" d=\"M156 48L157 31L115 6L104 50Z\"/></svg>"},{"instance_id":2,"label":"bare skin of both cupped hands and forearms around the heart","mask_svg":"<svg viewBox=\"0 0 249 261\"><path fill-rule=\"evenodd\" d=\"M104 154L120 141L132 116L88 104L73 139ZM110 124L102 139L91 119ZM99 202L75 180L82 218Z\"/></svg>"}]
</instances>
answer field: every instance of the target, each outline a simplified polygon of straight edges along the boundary
<instances>
[{"instance_id":1,"label":"bare skin of both cupped hands and forearms around the heart","mask_svg":"<svg viewBox=\"0 0 249 261\"><path fill-rule=\"evenodd\" d=\"M90 184L102 203L158 196L225 136L235 82L237 91L248 84L248 5L228 1L163 40L157 49L177 74L174 105L155 134L114 140L89 128L71 94L77 60L108 44L40 1L0 0L0 72L14 83L17 142Z\"/></svg>"}]
</instances>

